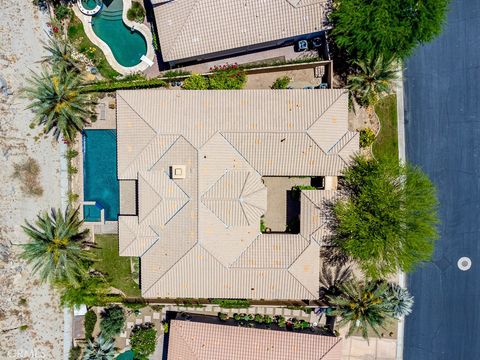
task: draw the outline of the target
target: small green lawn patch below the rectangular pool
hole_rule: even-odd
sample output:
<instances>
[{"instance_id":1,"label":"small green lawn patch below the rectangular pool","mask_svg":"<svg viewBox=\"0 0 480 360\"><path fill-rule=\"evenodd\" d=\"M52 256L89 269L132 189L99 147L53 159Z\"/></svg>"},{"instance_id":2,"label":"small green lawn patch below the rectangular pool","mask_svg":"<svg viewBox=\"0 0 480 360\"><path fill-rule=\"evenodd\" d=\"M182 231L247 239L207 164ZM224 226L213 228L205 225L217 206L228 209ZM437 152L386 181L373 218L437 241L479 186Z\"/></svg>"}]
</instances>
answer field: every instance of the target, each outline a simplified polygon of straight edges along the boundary
<instances>
[{"instance_id":1,"label":"small green lawn patch below the rectangular pool","mask_svg":"<svg viewBox=\"0 0 480 360\"><path fill-rule=\"evenodd\" d=\"M127 296L140 296L140 288L133 281L130 258L118 255L118 235L95 235L95 243L98 246L93 250L98 258L95 268L106 274L114 288Z\"/></svg>"}]
</instances>

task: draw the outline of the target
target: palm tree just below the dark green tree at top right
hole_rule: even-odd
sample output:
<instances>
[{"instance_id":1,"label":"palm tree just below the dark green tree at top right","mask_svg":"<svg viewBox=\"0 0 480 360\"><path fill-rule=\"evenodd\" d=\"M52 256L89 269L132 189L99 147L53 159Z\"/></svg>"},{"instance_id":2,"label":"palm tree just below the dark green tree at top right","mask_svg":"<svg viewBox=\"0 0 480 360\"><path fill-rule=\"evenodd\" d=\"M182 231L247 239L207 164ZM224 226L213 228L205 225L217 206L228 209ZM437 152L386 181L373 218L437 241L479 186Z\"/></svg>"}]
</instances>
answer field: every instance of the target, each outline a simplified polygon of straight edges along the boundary
<instances>
[{"instance_id":1,"label":"palm tree just below the dark green tree at top right","mask_svg":"<svg viewBox=\"0 0 480 360\"><path fill-rule=\"evenodd\" d=\"M397 79L397 62L394 58L370 57L366 61L354 62L357 72L348 77L347 88L360 105L371 106L392 91Z\"/></svg>"}]
</instances>

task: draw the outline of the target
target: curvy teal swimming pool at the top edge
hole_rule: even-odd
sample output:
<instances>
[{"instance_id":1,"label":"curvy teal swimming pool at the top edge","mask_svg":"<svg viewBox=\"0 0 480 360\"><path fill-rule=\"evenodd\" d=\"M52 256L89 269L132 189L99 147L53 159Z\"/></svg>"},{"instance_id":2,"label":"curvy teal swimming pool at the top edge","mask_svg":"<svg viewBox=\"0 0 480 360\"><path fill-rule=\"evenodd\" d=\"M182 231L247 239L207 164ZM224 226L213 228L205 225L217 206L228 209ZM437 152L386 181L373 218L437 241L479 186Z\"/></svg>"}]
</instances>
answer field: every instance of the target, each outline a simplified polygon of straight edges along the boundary
<instances>
[{"instance_id":1,"label":"curvy teal swimming pool at the top edge","mask_svg":"<svg viewBox=\"0 0 480 360\"><path fill-rule=\"evenodd\" d=\"M140 63L147 53L147 43L143 35L131 29L122 20L123 0L103 1L102 10L93 17L95 34L105 41L118 63L125 67Z\"/></svg>"}]
</instances>

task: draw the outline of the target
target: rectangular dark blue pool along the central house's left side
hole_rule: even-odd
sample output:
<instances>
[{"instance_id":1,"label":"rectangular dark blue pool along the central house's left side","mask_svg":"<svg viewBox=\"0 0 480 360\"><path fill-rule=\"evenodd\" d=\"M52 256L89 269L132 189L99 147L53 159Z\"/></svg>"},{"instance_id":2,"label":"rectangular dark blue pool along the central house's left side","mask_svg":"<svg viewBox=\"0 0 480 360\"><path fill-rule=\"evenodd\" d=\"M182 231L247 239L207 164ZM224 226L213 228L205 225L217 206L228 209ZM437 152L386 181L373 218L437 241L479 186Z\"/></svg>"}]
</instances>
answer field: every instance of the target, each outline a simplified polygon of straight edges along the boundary
<instances>
[{"instance_id":1,"label":"rectangular dark blue pool along the central house's left side","mask_svg":"<svg viewBox=\"0 0 480 360\"><path fill-rule=\"evenodd\" d=\"M117 180L117 134L115 130L84 130L83 132L83 196L85 221L98 221L100 209L105 220L118 220L119 189Z\"/></svg>"}]
</instances>

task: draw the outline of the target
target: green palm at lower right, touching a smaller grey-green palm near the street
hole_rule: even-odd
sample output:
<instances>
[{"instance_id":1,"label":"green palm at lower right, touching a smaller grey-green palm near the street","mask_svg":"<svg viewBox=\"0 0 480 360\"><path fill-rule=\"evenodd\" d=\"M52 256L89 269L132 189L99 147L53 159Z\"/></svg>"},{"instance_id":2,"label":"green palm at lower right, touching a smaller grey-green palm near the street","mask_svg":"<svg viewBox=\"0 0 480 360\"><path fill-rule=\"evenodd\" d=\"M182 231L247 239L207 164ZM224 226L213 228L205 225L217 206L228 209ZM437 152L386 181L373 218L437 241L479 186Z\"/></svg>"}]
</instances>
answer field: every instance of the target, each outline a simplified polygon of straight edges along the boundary
<instances>
[{"instance_id":1,"label":"green palm at lower right, touching a smaller grey-green palm near the street","mask_svg":"<svg viewBox=\"0 0 480 360\"><path fill-rule=\"evenodd\" d=\"M380 328L392 318L392 305L386 296L388 284L367 281L348 281L340 286L340 295L330 296L335 307L333 315L340 316L339 325L349 324L348 335L359 331L368 340L368 330L380 336Z\"/></svg>"}]
</instances>

